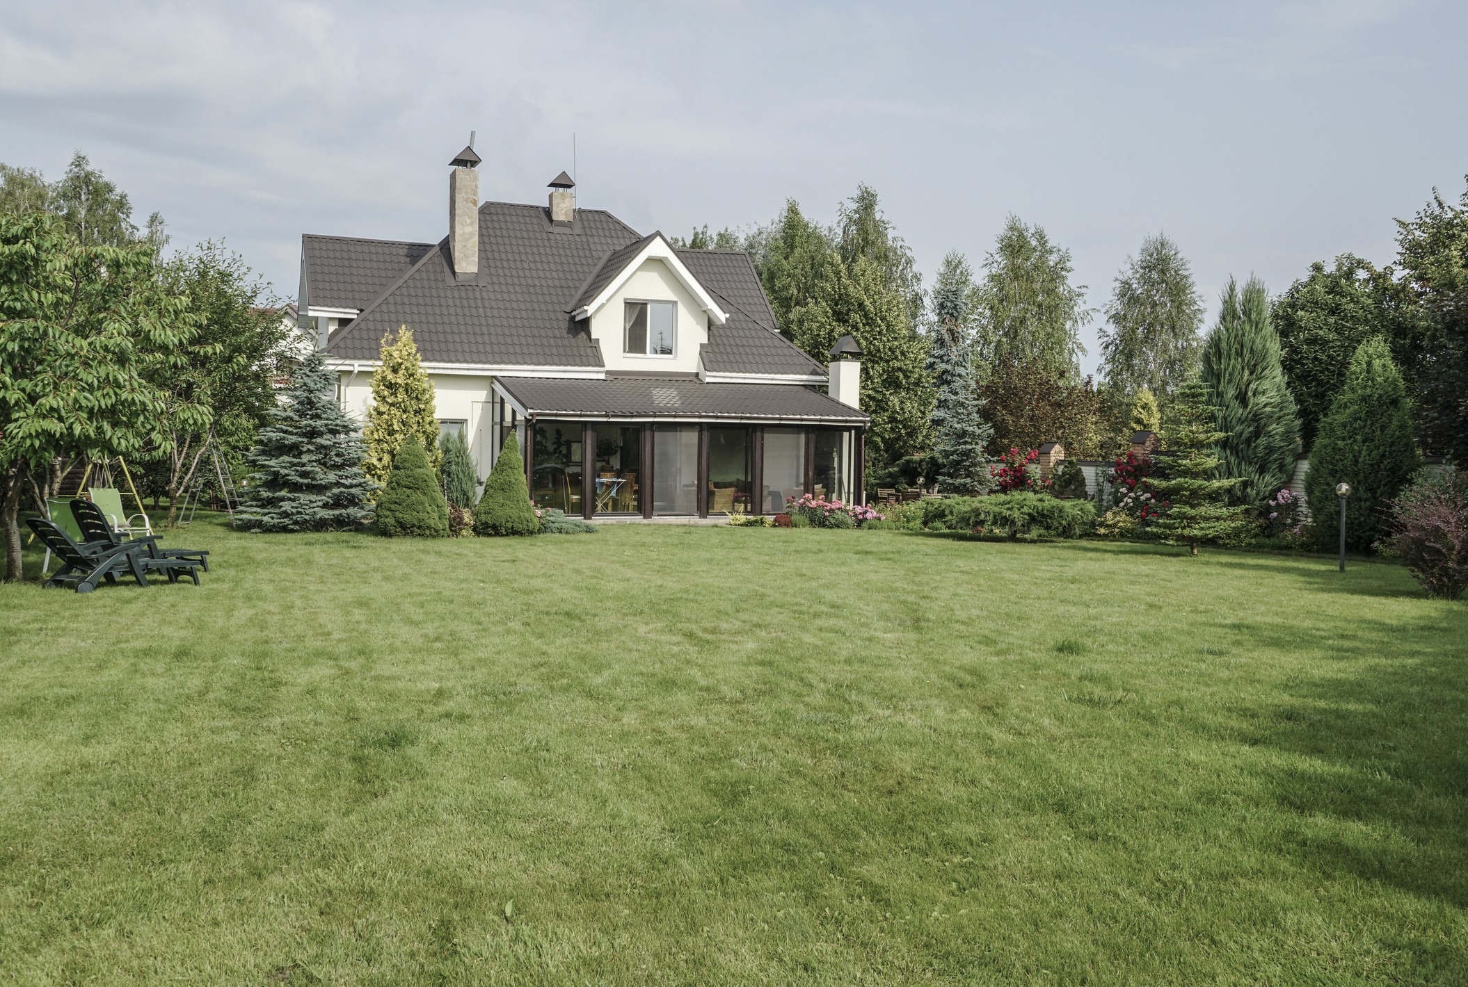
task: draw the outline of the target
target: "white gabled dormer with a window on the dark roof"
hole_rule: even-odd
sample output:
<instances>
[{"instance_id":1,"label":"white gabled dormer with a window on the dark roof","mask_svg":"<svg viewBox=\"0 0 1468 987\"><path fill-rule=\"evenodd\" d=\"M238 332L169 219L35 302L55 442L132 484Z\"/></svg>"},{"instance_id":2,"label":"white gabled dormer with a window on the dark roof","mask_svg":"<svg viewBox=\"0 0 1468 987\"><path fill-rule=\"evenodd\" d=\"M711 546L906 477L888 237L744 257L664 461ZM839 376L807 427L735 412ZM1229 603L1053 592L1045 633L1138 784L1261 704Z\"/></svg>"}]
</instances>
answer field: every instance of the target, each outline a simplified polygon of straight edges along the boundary
<instances>
[{"instance_id":1,"label":"white gabled dormer with a window on the dark roof","mask_svg":"<svg viewBox=\"0 0 1468 987\"><path fill-rule=\"evenodd\" d=\"M606 255L571 305L608 371L699 371L709 327L728 321L662 233Z\"/></svg>"}]
</instances>

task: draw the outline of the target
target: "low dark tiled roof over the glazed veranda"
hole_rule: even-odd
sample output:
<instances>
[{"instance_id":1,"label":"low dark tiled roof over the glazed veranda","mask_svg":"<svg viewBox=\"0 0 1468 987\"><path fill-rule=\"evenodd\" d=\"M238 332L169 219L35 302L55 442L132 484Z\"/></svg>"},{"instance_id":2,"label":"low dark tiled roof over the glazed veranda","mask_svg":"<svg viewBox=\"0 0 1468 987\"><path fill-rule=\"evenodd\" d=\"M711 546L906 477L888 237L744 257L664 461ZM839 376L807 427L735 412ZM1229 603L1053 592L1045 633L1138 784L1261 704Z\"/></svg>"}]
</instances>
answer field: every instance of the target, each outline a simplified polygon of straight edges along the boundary
<instances>
[{"instance_id":1,"label":"low dark tiled roof over the glazed veranda","mask_svg":"<svg viewBox=\"0 0 1468 987\"><path fill-rule=\"evenodd\" d=\"M863 424L866 415L799 384L705 384L696 377L501 377L526 411L555 417L731 418Z\"/></svg>"}]
</instances>

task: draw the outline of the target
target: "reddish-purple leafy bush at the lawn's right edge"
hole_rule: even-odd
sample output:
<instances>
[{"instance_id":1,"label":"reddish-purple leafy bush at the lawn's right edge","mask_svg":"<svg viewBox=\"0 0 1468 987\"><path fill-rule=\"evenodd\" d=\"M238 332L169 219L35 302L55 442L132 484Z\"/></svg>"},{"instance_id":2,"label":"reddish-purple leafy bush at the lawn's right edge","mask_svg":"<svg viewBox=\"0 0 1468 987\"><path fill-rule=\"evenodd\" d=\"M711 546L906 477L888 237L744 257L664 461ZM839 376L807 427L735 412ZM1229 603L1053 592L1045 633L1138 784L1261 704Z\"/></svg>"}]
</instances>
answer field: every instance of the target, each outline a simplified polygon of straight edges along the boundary
<instances>
[{"instance_id":1,"label":"reddish-purple leafy bush at the lawn's right edge","mask_svg":"<svg viewBox=\"0 0 1468 987\"><path fill-rule=\"evenodd\" d=\"M1392 512L1386 547L1402 557L1430 597L1456 600L1468 588L1468 483L1420 480Z\"/></svg>"}]
</instances>

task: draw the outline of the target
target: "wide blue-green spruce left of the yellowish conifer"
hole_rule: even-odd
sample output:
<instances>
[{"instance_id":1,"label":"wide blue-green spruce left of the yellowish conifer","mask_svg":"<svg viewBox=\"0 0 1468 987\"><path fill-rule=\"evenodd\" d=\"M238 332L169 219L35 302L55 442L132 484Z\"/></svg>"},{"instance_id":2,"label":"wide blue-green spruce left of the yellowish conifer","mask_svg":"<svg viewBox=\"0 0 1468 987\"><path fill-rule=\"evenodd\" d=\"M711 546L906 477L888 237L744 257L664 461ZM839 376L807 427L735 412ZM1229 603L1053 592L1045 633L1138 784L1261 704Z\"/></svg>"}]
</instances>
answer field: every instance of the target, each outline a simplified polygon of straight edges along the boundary
<instances>
[{"instance_id":1,"label":"wide blue-green spruce left of the yellowish conifer","mask_svg":"<svg viewBox=\"0 0 1468 987\"><path fill-rule=\"evenodd\" d=\"M336 374L321 353L297 368L285 400L270 411L235 522L244 531L345 531L371 516L376 485L363 472L357 425L342 414Z\"/></svg>"}]
</instances>

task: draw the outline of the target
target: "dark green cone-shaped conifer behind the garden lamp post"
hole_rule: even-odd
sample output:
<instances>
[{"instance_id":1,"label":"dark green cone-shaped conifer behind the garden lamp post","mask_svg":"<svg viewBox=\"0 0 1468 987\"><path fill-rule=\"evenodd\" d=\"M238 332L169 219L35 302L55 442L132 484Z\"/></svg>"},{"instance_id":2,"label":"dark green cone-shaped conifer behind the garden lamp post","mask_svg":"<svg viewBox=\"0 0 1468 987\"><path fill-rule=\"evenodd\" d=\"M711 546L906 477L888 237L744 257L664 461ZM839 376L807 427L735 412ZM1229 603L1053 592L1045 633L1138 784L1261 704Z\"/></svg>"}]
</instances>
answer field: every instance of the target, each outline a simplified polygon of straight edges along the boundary
<instances>
[{"instance_id":1,"label":"dark green cone-shaped conifer behind the garden lamp post","mask_svg":"<svg viewBox=\"0 0 1468 987\"><path fill-rule=\"evenodd\" d=\"M1305 500L1326 546L1339 537L1336 484L1351 484L1346 544L1361 551L1386 532L1392 500L1420 466L1412 405L1380 336L1361 343L1330 412L1320 422L1305 472Z\"/></svg>"}]
</instances>

